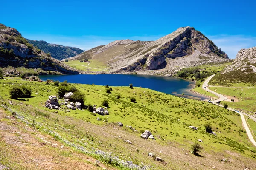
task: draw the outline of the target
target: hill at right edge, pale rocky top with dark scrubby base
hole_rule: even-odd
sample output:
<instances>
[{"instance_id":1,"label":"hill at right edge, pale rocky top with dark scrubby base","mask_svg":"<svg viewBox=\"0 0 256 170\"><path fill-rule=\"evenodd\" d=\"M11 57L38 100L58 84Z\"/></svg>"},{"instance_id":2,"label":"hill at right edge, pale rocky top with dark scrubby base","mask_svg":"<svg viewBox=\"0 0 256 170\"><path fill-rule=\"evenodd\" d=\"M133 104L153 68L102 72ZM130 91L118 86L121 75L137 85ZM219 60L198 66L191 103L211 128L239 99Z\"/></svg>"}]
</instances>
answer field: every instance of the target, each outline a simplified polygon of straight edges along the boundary
<instances>
[{"instance_id":1,"label":"hill at right edge, pale rocky top with dark scrubby base","mask_svg":"<svg viewBox=\"0 0 256 170\"><path fill-rule=\"evenodd\" d=\"M211 85L232 85L256 83L256 47L241 49L236 59L223 72L213 77Z\"/></svg>"}]
</instances>

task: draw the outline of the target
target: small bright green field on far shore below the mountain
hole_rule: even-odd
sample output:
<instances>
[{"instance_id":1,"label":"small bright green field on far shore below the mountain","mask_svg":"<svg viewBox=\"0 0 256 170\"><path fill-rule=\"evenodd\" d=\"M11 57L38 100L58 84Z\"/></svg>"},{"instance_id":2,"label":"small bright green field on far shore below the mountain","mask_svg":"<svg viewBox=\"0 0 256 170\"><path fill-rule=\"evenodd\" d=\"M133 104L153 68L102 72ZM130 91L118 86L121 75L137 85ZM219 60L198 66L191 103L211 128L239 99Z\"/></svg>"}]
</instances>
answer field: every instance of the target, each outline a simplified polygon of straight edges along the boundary
<instances>
[{"instance_id":1,"label":"small bright green field on far shore below the mountain","mask_svg":"<svg viewBox=\"0 0 256 170\"><path fill-rule=\"evenodd\" d=\"M99 72L99 71L108 71L107 67L102 62L97 62L95 60L89 60L91 61L88 65L88 62L80 62L78 60L68 61L65 62L65 64L69 65L70 67L84 70L84 71L92 71L92 72Z\"/></svg>"}]
</instances>

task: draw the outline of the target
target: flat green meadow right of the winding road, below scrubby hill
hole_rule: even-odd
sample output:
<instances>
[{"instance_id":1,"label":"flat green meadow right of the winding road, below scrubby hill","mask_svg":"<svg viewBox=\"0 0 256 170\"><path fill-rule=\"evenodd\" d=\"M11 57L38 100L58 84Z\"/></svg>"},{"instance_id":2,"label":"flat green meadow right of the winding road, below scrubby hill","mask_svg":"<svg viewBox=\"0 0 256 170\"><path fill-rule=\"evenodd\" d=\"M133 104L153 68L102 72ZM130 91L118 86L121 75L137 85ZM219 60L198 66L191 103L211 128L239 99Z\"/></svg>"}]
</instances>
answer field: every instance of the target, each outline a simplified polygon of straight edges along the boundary
<instances>
[{"instance_id":1,"label":"flat green meadow right of the winding road, below scrubby hill","mask_svg":"<svg viewBox=\"0 0 256 170\"><path fill-rule=\"evenodd\" d=\"M227 103L232 108L242 109L250 113L256 111L256 88L209 87L209 89L219 94L238 99L238 102L228 101L221 103Z\"/></svg>"}]
</instances>

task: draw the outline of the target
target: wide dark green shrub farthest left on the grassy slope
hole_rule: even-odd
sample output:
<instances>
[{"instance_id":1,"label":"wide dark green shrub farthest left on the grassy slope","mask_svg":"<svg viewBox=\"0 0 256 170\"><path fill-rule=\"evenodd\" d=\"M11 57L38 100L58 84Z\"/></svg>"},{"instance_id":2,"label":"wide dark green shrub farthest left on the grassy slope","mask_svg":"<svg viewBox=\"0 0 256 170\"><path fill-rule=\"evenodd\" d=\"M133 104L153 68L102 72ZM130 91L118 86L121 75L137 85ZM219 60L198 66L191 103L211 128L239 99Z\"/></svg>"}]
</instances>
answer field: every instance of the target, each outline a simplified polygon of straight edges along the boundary
<instances>
[{"instance_id":1,"label":"wide dark green shrub farthest left on the grassy slope","mask_svg":"<svg viewBox=\"0 0 256 170\"><path fill-rule=\"evenodd\" d=\"M31 88L26 87L25 85L14 86L10 89L9 92L11 95L11 99L29 98L31 97L31 94L32 94Z\"/></svg>"}]
</instances>

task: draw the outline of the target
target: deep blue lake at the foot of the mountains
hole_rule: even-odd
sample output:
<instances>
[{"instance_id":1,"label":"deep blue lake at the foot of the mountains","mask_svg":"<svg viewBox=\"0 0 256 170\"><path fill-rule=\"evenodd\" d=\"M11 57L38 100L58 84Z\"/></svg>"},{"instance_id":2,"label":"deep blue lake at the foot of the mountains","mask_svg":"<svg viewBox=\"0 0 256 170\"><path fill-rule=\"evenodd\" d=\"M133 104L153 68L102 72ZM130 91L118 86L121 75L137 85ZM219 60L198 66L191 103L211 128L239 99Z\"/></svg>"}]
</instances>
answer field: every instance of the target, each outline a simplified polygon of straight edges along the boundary
<instances>
[{"instance_id":1,"label":"deep blue lake at the foot of the mountains","mask_svg":"<svg viewBox=\"0 0 256 170\"><path fill-rule=\"evenodd\" d=\"M190 99L204 100L208 99L200 94L195 94L191 89L195 82L179 79L175 77L137 75L137 74L76 74L76 75L47 75L39 76L41 80L53 79L55 81L80 84L95 84L109 86L129 86L149 88L155 91L172 94L175 96L186 97ZM184 93L184 95L182 95Z\"/></svg>"}]
</instances>

